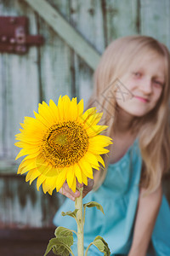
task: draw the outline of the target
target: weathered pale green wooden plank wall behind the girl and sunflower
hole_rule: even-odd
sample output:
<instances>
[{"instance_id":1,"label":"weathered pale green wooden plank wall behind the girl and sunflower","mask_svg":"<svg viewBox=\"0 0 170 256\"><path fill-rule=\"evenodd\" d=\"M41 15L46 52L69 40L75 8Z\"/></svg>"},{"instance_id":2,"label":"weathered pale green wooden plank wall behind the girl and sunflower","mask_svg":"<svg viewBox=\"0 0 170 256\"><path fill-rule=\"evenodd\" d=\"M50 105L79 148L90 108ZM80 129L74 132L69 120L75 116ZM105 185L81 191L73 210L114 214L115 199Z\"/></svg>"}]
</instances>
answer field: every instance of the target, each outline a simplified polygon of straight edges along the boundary
<instances>
[{"instance_id":1,"label":"weathered pale green wooden plank wall behind the girl and sunflower","mask_svg":"<svg viewBox=\"0 0 170 256\"><path fill-rule=\"evenodd\" d=\"M35 0L36 1L36 0ZM39 1L39 0L38 0ZM49 227L64 197L37 192L25 177L16 176L14 161L19 148L14 135L25 116L33 116L38 102L59 95L88 101L93 88L93 68L63 40L29 1L4 0L0 15L26 15L30 33L45 38L41 47L26 55L0 53L0 228ZM43 2L43 1L42 1ZM114 39L144 34L159 39L170 49L169 0L48 0L46 3L82 35L100 55ZM43 4L39 5L39 9ZM48 17L48 12L47 12ZM69 31L68 31L69 35ZM167 190L167 194L169 191ZM170 195L170 193L169 193Z\"/></svg>"}]
</instances>

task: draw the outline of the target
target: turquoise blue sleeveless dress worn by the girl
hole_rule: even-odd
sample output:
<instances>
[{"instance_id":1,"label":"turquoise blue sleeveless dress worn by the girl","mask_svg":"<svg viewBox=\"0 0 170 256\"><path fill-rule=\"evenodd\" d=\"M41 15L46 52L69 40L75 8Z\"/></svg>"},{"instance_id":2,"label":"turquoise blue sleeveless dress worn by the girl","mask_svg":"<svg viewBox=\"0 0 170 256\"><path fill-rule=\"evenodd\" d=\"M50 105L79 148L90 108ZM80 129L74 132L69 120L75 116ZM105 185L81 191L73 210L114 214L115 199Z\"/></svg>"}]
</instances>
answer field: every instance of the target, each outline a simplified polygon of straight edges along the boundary
<instances>
[{"instance_id":1,"label":"turquoise blue sleeveless dress worn by the girl","mask_svg":"<svg viewBox=\"0 0 170 256\"><path fill-rule=\"evenodd\" d=\"M138 140L128 148L121 160L108 166L104 183L97 191L91 191L83 199L83 203L97 201L104 208L105 215L96 207L86 209L84 224L84 247L88 247L96 236L102 236L108 243L111 255L127 255L133 239L134 218L139 200L139 180L142 158ZM73 211L75 203L66 199L54 216L56 226L64 226L77 230L74 218L62 217L61 212ZM74 237L77 240L77 237ZM147 256L170 255L170 208L165 196L162 197L155 228L152 233L155 250ZM71 247L77 255L77 243ZM88 256L103 255L93 245Z\"/></svg>"}]
</instances>

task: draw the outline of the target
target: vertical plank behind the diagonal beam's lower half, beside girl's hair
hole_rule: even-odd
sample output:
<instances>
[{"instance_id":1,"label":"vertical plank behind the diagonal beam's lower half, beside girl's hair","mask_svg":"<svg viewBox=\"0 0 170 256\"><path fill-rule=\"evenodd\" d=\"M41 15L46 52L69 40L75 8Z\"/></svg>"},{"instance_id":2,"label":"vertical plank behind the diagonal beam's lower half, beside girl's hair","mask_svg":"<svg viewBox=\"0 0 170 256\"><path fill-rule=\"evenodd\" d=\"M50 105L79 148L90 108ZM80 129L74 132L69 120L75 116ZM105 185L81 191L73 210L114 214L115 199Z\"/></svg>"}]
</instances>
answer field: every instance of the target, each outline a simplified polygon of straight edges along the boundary
<instances>
[{"instance_id":1,"label":"vertical plank behind the diagonal beam's lower half, beside girl's hair","mask_svg":"<svg viewBox=\"0 0 170 256\"><path fill-rule=\"evenodd\" d=\"M71 1L70 19L71 24L82 33L83 38L86 38L95 49L102 53L105 49L105 33L101 1ZM72 58L77 95L79 99L83 98L84 105L86 105L93 90L94 72L79 58L77 53Z\"/></svg>"}]
</instances>

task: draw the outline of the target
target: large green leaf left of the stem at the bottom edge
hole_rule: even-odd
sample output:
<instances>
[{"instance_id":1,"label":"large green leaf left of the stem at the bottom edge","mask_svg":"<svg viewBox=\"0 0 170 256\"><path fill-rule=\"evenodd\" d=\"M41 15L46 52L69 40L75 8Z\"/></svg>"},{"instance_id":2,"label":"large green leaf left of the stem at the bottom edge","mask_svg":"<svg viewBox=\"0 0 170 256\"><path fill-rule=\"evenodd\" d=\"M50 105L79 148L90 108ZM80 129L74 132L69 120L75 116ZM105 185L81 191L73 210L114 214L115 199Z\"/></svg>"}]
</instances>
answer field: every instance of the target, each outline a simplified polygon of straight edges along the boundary
<instances>
[{"instance_id":1,"label":"large green leaf left of the stem at the bottom edge","mask_svg":"<svg viewBox=\"0 0 170 256\"><path fill-rule=\"evenodd\" d=\"M73 245L73 236L71 230L68 230L64 227L58 227L55 230L56 238L52 238L49 243L47 250L44 254L46 256L50 250L53 250L54 254L69 256L71 251L71 245Z\"/></svg>"}]
</instances>

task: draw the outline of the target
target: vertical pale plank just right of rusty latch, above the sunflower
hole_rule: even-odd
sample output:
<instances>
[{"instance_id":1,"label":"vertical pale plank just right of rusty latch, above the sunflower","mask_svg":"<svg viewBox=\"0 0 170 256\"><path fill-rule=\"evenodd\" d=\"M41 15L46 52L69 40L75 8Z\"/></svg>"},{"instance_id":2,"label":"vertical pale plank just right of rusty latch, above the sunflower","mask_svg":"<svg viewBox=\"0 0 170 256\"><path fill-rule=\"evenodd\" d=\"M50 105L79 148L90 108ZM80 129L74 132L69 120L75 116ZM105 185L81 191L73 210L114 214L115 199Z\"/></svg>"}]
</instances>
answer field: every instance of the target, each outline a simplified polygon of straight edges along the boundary
<instances>
[{"instance_id":1,"label":"vertical pale plank just right of rusty latch, above the sunflower","mask_svg":"<svg viewBox=\"0 0 170 256\"><path fill-rule=\"evenodd\" d=\"M65 13L69 10L68 1L53 2L57 3L55 8ZM38 24L39 32L45 38L45 44L39 52L43 100L48 102L53 99L57 103L60 95L72 96L71 48L47 22L39 18Z\"/></svg>"}]
</instances>

